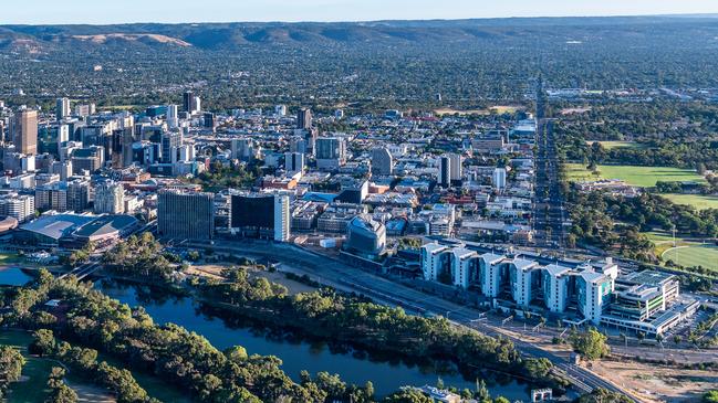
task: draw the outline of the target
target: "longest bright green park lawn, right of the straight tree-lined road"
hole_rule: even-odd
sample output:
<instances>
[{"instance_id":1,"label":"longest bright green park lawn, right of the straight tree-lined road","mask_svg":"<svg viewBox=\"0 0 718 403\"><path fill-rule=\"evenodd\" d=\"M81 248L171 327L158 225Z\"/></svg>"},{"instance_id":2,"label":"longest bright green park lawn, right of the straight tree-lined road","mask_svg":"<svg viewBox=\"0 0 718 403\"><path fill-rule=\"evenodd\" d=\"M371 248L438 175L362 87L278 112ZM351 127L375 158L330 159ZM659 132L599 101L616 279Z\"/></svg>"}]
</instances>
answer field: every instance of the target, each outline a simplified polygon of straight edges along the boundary
<instances>
[{"instance_id":1,"label":"longest bright green park lawn, right of the straight tree-lined road","mask_svg":"<svg viewBox=\"0 0 718 403\"><path fill-rule=\"evenodd\" d=\"M670 167L634 167L634 166L599 166L600 177L596 178L582 163L566 163L566 176L570 181L594 181L596 179L620 179L634 187L655 187L656 182L697 182L705 179L690 169Z\"/></svg>"}]
</instances>

